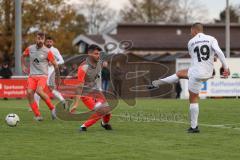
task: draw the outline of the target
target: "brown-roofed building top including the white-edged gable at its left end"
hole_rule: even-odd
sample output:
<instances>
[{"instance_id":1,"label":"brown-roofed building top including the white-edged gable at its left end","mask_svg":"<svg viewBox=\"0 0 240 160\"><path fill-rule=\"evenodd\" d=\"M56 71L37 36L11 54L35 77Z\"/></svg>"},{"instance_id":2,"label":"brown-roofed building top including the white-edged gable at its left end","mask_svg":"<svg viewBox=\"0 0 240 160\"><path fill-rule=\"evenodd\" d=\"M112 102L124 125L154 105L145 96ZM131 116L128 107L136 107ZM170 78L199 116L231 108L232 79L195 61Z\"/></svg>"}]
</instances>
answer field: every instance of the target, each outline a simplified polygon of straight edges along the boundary
<instances>
[{"instance_id":1,"label":"brown-roofed building top including the white-edged gable at its left end","mask_svg":"<svg viewBox=\"0 0 240 160\"><path fill-rule=\"evenodd\" d=\"M84 53L87 45L95 43L108 53L126 53L124 42L131 45L128 51L136 55L146 54L176 54L187 53L187 43L191 39L190 24L119 24L107 29L101 35L79 35L73 40L73 45ZM206 24L205 33L210 34L225 50L225 25ZM240 54L240 25L231 25L231 55ZM114 46L115 45L115 46Z\"/></svg>"}]
</instances>

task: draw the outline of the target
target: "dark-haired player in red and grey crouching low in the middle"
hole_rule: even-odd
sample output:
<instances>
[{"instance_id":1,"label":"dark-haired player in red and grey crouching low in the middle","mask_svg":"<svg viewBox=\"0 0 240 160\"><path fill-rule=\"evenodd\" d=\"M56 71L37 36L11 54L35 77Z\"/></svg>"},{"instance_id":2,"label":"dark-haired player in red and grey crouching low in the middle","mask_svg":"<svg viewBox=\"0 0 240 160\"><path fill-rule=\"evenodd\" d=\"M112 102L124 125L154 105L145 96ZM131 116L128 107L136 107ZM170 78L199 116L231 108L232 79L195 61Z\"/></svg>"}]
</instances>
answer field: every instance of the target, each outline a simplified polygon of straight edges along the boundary
<instances>
[{"instance_id":1,"label":"dark-haired player in red and grey crouching low in the middle","mask_svg":"<svg viewBox=\"0 0 240 160\"><path fill-rule=\"evenodd\" d=\"M87 131L87 128L95 124L98 120L102 119L101 126L106 130L112 130L109 124L111 114L97 113L101 108L108 108L109 105L101 92L96 93L94 90L101 90L101 68L100 52L102 49L97 45L90 45L88 47L88 57L78 68L78 81L80 83L78 96L82 102L90 109L95 110L96 113L92 115L80 127L80 131Z\"/></svg>"}]
</instances>

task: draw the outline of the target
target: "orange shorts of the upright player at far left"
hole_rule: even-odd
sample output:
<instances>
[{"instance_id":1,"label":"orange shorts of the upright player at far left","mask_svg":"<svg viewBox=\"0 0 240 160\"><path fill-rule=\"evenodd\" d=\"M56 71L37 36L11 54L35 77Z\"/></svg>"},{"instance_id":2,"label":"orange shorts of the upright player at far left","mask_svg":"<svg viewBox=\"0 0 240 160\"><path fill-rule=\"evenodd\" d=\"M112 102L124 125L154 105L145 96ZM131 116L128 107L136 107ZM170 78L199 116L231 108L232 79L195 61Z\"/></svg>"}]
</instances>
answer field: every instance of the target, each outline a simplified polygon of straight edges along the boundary
<instances>
[{"instance_id":1,"label":"orange shorts of the upright player at far left","mask_svg":"<svg viewBox=\"0 0 240 160\"><path fill-rule=\"evenodd\" d=\"M36 91L38 87L43 89L47 85L47 76L30 76L27 81L27 88Z\"/></svg>"}]
</instances>

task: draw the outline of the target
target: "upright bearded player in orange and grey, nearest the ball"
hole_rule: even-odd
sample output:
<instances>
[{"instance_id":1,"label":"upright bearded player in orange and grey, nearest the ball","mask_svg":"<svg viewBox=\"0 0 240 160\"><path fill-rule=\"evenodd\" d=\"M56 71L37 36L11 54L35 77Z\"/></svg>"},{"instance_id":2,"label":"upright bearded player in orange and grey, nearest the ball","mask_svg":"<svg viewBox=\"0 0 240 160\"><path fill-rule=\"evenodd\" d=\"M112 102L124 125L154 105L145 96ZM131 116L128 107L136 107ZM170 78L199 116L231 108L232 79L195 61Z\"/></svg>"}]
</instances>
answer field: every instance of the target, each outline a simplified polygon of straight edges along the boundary
<instances>
[{"instance_id":1,"label":"upright bearded player in orange and grey, nearest the ball","mask_svg":"<svg viewBox=\"0 0 240 160\"><path fill-rule=\"evenodd\" d=\"M37 102L34 100L35 92L40 95L51 110L52 119L56 118L55 107L48 95L44 92L44 88L47 84L48 63L51 63L54 66L57 76L57 85L60 82L58 64L53 53L44 46L44 41L45 34L38 32L36 35L36 44L27 47L21 59L23 72L28 73L28 69L25 66L25 58L30 58L30 74L27 81L27 98L32 111L35 114L34 119L37 121L42 121L43 118L38 109Z\"/></svg>"}]
</instances>

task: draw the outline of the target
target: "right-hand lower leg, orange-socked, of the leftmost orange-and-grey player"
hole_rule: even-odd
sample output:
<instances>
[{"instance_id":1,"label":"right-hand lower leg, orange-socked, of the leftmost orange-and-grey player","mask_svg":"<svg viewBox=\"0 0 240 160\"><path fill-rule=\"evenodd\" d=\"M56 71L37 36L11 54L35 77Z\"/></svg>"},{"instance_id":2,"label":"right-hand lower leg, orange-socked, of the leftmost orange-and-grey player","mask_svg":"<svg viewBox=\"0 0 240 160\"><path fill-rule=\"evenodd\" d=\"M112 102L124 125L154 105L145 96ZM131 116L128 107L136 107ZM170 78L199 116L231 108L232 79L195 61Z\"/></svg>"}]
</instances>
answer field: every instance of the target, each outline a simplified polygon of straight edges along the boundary
<instances>
[{"instance_id":1,"label":"right-hand lower leg, orange-socked, of the leftmost orange-and-grey player","mask_svg":"<svg viewBox=\"0 0 240 160\"><path fill-rule=\"evenodd\" d=\"M55 111L55 107L51 102L51 99L49 98L49 96L43 91L42 87L38 87L37 89L37 93L38 95L44 100L44 102L47 104L48 108L51 110L51 115L52 115L52 119L56 119L56 111Z\"/></svg>"}]
</instances>

